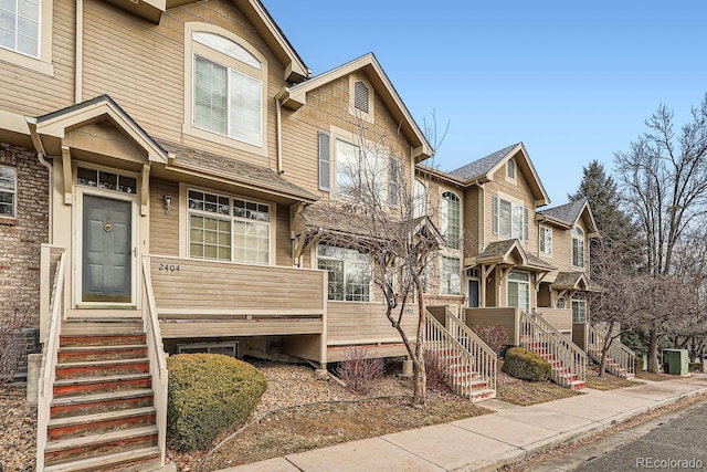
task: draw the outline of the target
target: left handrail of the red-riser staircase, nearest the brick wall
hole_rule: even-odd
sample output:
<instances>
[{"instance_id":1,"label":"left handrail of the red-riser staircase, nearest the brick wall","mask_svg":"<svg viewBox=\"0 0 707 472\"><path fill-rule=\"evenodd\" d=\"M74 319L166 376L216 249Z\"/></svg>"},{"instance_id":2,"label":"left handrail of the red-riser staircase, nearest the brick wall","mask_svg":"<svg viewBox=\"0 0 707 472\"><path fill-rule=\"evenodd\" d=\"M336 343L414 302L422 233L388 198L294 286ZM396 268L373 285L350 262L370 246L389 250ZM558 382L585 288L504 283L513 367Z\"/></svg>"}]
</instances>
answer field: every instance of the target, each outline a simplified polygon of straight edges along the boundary
<instances>
[{"instance_id":1,"label":"left handrail of the red-riser staircase, nearest the brick wall","mask_svg":"<svg viewBox=\"0 0 707 472\"><path fill-rule=\"evenodd\" d=\"M36 405L36 470L44 470L44 450L49 439L50 408L54 399L54 380L56 379L56 363L59 353L59 337L62 332L61 312L64 294L64 272L66 270L66 252L63 251L56 265L56 276L52 290L50 304L50 324L46 345L42 355L42 368L40 371L40 385Z\"/></svg>"}]
</instances>

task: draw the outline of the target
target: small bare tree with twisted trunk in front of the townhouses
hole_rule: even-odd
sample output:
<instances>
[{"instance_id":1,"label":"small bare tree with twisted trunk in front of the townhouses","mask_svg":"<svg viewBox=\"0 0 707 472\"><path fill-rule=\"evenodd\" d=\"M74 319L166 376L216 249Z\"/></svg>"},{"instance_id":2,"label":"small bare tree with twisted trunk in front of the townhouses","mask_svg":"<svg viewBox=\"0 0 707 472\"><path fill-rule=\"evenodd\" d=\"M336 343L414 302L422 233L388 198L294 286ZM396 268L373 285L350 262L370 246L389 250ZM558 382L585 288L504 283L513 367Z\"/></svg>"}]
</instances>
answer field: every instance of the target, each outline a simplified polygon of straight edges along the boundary
<instances>
[{"instance_id":1,"label":"small bare tree with twisted trunk in front of the townhouses","mask_svg":"<svg viewBox=\"0 0 707 472\"><path fill-rule=\"evenodd\" d=\"M413 164L392 154L394 140L374 135L363 124L355 138L357 143L337 162L336 196L307 211L325 212L329 220L342 216L348 221L350 231L323 230L316 242L329 245L331 251L349 249L367 255L361 259L367 265L361 264L360 274L350 280L356 280L361 290L372 285L384 300L386 317L398 331L413 365L413 406L424 406L426 371L421 340L426 317L425 292L444 239L430 219L426 196L414 192L410 181ZM356 291L344 286L347 281L334 277L336 274L330 272L330 291L339 285L342 292ZM404 329L410 307L414 307L414 333Z\"/></svg>"}]
</instances>

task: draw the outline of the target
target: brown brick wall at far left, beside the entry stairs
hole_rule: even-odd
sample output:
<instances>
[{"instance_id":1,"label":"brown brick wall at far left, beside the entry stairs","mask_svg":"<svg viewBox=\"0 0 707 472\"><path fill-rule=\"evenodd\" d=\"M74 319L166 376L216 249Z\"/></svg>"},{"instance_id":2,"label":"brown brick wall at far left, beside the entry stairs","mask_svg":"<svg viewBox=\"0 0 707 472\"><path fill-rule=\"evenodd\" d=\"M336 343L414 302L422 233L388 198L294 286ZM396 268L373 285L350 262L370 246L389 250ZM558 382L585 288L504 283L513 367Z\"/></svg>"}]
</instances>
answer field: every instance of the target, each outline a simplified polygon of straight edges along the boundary
<instances>
[{"instance_id":1,"label":"brown brick wall at far left, beside the entry stairs","mask_svg":"<svg viewBox=\"0 0 707 472\"><path fill-rule=\"evenodd\" d=\"M17 218L0 219L0 319L15 310L39 323L40 247L49 240L49 177L36 151L0 143L0 165L17 169Z\"/></svg>"}]
</instances>

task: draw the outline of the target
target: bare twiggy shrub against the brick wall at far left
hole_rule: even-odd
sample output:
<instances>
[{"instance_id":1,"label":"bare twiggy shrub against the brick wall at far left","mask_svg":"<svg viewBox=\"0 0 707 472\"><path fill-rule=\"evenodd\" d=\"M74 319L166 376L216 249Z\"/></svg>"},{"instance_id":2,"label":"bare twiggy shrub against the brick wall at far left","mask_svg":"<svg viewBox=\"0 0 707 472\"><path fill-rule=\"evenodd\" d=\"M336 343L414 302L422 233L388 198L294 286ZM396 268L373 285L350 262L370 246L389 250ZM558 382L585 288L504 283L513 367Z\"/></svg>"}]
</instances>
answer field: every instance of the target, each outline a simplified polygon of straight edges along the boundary
<instances>
[{"instance_id":1,"label":"bare twiggy shrub against the brick wall at far left","mask_svg":"<svg viewBox=\"0 0 707 472\"><path fill-rule=\"evenodd\" d=\"M14 378L30 345L24 335L29 313L0 312L0 387Z\"/></svg>"}]
</instances>

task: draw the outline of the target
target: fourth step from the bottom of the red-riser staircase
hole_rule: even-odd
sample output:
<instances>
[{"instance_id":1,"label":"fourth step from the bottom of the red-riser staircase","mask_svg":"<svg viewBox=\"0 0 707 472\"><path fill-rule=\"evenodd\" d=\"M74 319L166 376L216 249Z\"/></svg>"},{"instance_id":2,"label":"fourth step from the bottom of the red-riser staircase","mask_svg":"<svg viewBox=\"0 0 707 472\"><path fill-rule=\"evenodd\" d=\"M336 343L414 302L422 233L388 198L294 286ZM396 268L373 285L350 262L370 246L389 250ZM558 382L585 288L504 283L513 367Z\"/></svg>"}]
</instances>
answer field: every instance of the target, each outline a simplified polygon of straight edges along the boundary
<instances>
[{"instance_id":1,"label":"fourth step from the bottom of the red-riser staircase","mask_svg":"<svg viewBox=\"0 0 707 472\"><path fill-rule=\"evenodd\" d=\"M106 411L151 407L152 390L136 389L109 394L78 395L52 400L50 418L66 418Z\"/></svg>"}]
</instances>

